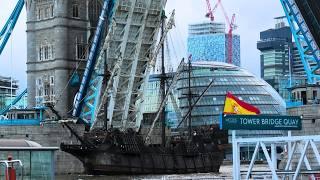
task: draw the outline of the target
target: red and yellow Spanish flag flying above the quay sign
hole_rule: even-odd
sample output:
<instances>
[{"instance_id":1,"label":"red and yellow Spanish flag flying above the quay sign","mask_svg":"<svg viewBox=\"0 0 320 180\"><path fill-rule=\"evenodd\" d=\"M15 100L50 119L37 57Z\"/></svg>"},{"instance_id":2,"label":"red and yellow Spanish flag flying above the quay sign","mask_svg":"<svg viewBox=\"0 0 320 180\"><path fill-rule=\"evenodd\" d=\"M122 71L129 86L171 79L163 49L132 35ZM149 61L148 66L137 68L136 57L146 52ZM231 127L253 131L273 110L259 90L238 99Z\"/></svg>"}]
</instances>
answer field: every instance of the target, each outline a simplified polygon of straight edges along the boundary
<instances>
[{"instance_id":1,"label":"red and yellow Spanish flag flying above the quay sign","mask_svg":"<svg viewBox=\"0 0 320 180\"><path fill-rule=\"evenodd\" d=\"M251 104L241 101L230 92L227 92L226 101L224 103L224 114L260 114L260 110Z\"/></svg>"}]
</instances>

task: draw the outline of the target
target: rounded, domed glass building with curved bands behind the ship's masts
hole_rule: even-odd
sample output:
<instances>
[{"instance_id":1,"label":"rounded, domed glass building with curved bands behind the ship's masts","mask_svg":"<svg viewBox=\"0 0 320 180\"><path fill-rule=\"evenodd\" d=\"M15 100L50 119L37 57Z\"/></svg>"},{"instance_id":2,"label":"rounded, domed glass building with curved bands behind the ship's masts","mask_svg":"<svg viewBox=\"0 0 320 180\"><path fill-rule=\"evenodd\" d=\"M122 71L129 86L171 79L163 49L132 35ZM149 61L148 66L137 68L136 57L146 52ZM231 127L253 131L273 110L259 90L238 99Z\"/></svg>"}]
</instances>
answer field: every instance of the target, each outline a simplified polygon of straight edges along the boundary
<instances>
[{"instance_id":1,"label":"rounded, domed glass building with curved bands behind the ship's masts","mask_svg":"<svg viewBox=\"0 0 320 180\"><path fill-rule=\"evenodd\" d=\"M188 80L189 71L185 65L182 74L179 76L175 85L172 98L168 98L165 118L167 126L176 128L182 117L189 110L188 105ZM219 116L223 112L226 92L230 91L239 99L244 100L260 109L262 114L286 113L284 100L279 94L264 80L255 77L248 71L222 62L196 61L191 67L191 93L192 104L199 95L209 85L211 80L214 84L205 93L202 99L195 105L191 112L192 126L219 124ZM174 76L174 73L167 75L167 84ZM143 125L150 125L154 119L158 107L160 93L160 75L151 75L148 83L148 89L145 94L145 105L143 114ZM178 113L176 113L178 112ZM180 114L181 113L181 114ZM184 129L188 126L187 121L180 126ZM177 129L172 129L173 131ZM248 137L255 135L257 137L279 136L282 131L278 130L239 130L238 136ZM229 135L229 142L231 138ZM252 156L254 147L248 146L241 149L242 157ZM231 152L226 152L226 159L231 159ZM262 155L260 157L263 157Z\"/></svg>"}]
</instances>

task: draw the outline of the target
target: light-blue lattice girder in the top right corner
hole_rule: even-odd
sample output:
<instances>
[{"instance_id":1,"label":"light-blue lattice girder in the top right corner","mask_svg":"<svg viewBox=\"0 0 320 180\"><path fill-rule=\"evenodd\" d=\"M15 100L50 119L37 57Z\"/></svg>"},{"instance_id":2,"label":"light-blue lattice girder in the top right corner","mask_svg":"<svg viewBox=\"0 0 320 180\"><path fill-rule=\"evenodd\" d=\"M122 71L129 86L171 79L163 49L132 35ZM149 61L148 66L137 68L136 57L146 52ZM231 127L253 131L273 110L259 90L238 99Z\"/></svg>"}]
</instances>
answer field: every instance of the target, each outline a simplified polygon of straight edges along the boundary
<instances>
[{"instance_id":1,"label":"light-blue lattice girder in the top right corner","mask_svg":"<svg viewBox=\"0 0 320 180\"><path fill-rule=\"evenodd\" d=\"M320 80L319 72L320 58L319 48L316 44L299 8L294 0L280 0L286 17L288 19L291 32L295 39L299 54L307 74L308 83L315 84ZM311 67L311 62L316 66Z\"/></svg>"}]
</instances>

